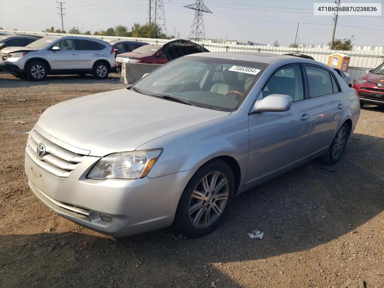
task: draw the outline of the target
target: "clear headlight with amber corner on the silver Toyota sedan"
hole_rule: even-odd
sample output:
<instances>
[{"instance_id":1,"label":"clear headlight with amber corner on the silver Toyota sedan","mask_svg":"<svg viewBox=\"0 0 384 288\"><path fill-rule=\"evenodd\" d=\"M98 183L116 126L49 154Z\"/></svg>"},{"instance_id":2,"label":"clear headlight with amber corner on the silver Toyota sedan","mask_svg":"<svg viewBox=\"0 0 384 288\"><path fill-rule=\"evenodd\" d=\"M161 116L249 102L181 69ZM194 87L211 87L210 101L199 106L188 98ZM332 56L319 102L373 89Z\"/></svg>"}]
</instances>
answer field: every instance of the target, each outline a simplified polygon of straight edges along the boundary
<instances>
[{"instance_id":1,"label":"clear headlight with amber corner on the silver Toyota sedan","mask_svg":"<svg viewBox=\"0 0 384 288\"><path fill-rule=\"evenodd\" d=\"M159 158L162 149L118 152L103 157L89 171L91 179L139 179L145 177Z\"/></svg>"}]
</instances>

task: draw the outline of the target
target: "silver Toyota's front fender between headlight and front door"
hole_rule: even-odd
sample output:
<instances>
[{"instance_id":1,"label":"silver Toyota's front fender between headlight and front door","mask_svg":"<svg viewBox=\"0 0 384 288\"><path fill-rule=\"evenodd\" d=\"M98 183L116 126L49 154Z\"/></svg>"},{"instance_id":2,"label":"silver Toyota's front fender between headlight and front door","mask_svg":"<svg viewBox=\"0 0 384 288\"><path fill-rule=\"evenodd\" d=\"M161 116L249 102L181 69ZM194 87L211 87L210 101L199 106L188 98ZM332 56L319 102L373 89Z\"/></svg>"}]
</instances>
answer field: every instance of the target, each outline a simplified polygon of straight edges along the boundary
<instances>
[{"instance_id":1,"label":"silver Toyota's front fender between headlight and front door","mask_svg":"<svg viewBox=\"0 0 384 288\"><path fill-rule=\"evenodd\" d=\"M230 156L241 170L240 185L248 167L248 114L238 109L230 115L154 139L136 150L163 148L147 177L156 178L199 168L219 156Z\"/></svg>"}]
</instances>

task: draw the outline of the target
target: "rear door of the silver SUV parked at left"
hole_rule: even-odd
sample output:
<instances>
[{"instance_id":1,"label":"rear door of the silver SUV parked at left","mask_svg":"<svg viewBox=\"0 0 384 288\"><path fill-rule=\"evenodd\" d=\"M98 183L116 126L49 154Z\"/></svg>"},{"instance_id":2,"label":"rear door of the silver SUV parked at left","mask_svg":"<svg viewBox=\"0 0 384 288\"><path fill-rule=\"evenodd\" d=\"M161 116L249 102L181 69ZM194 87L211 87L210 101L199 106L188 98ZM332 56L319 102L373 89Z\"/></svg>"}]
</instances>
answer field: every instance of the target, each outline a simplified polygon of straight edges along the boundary
<instances>
[{"instance_id":1,"label":"rear door of the silver SUV parked at left","mask_svg":"<svg viewBox=\"0 0 384 288\"><path fill-rule=\"evenodd\" d=\"M76 40L76 50L79 53L79 69L90 70L93 64L101 57L106 47L98 42L89 40Z\"/></svg>"}]
</instances>

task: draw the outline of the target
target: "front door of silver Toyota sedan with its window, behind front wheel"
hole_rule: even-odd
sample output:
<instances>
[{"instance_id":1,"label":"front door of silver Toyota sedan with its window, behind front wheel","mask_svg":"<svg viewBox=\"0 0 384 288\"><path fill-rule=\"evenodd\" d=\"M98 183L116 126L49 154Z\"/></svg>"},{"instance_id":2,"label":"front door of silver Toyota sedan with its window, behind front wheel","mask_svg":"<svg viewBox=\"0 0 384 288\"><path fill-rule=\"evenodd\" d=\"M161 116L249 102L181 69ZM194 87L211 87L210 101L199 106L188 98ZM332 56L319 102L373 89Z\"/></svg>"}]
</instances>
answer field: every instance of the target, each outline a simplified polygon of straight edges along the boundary
<instances>
[{"instance_id":1,"label":"front door of silver Toyota sedan with its window, behind front wheel","mask_svg":"<svg viewBox=\"0 0 384 288\"><path fill-rule=\"evenodd\" d=\"M286 112L249 115L249 161L246 185L257 185L289 170L311 154L307 141L311 131L311 107L306 97L300 64L277 68L266 81L257 99L271 94L292 98Z\"/></svg>"}]
</instances>

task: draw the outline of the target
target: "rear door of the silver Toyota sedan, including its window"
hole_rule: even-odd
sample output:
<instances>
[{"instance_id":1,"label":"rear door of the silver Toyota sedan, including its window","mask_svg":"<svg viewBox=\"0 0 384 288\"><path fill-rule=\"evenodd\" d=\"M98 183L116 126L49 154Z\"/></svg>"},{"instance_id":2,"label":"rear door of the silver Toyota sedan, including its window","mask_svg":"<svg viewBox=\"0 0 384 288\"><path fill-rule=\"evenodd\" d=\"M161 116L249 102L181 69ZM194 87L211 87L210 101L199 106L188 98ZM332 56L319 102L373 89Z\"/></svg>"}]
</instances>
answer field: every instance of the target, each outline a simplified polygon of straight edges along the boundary
<instances>
[{"instance_id":1,"label":"rear door of the silver Toyota sedan, including its window","mask_svg":"<svg viewBox=\"0 0 384 288\"><path fill-rule=\"evenodd\" d=\"M314 64L305 64L305 70L312 113L308 145L320 151L331 143L347 105L331 71Z\"/></svg>"}]
</instances>

